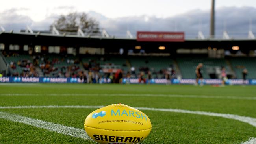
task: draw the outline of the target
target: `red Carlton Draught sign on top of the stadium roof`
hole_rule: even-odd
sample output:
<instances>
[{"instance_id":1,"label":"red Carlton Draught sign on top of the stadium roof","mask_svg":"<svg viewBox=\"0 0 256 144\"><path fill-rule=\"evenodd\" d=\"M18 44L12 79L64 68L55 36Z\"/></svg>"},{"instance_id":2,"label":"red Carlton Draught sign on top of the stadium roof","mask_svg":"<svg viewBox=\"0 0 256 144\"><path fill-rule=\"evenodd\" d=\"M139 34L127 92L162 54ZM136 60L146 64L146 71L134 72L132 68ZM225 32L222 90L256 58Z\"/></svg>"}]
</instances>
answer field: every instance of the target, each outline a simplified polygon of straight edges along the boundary
<instances>
[{"instance_id":1,"label":"red Carlton Draught sign on top of the stadium roof","mask_svg":"<svg viewBox=\"0 0 256 144\"><path fill-rule=\"evenodd\" d=\"M184 32L138 31L137 41L184 42Z\"/></svg>"}]
</instances>

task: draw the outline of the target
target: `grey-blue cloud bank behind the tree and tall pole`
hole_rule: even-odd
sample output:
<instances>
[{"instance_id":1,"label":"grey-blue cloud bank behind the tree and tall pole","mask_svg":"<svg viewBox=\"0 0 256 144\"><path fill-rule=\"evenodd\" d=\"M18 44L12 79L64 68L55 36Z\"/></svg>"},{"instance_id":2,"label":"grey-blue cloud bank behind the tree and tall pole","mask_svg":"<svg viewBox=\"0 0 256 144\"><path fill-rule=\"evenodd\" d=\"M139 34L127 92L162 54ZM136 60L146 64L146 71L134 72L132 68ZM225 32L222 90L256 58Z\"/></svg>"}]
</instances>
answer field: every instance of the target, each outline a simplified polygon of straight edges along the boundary
<instances>
[{"instance_id":1,"label":"grey-blue cloud bank behind the tree and tall pole","mask_svg":"<svg viewBox=\"0 0 256 144\"><path fill-rule=\"evenodd\" d=\"M72 9L72 6L68 6ZM66 9L60 6L60 9ZM30 17L19 14L20 9L10 9L0 13L0 25L6 30L20 30L31 26L35 30L49 30L50 24L59 15L52 14L40 22L34 22ZM247 37L249 20L252 19L252 29L256 31L256 8L254 7L221 7L216 10L215 33L222 37L223 30L228 31L232 37ZM90 17L99 21L100 27L104 28L110 35L125 37L129 30L134 36L137 31L184 31L187 38L195 38L198 30L205 36L210 31L210 11L195 9L184 14L173 17L159 18L156 16L129 16L120 18L108 18L95 11L88 12Z\"/></svg>"}]
</instances>

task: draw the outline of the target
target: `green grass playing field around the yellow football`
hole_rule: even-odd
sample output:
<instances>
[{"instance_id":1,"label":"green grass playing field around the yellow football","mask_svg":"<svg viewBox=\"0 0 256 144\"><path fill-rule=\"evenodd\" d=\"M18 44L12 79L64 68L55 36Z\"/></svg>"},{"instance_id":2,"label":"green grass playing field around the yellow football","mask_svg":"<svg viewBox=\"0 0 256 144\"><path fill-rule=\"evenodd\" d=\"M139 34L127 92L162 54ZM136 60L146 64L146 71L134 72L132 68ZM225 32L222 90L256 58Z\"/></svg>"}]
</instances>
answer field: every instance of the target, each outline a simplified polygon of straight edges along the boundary
<instances>
[{"instance_id":1,"label":"green grass playing field around the yellow football","mask_svg":"<svg viewBox=\"0 0 256 144\"><path fill-rule=\"evenodd\" d=\"M256 87L206 85L0 84L0 112L83 129L97 108L9 108L7 106L124 103L132 107L181 109L251 117L256 123ZM169 111L141 110L152 131L143 144L241 144L256 127L234 119ZM1 117L1 116L0 116ZM83 143L90 140L0 118L0 144Z\"/></svg>"}]
</instances>

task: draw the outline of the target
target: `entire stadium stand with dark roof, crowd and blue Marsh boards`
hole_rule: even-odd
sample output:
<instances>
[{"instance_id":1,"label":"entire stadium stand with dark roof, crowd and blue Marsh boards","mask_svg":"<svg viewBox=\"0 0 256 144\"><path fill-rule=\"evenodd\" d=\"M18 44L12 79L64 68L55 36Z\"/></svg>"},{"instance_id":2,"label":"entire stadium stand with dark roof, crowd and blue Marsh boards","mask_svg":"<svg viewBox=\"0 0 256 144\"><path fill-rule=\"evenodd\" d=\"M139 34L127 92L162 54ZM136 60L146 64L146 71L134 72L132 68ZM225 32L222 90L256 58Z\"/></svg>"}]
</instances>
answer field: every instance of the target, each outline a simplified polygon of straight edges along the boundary
<instances>
[{"instance_id":1,"label":"entire stadium stand with dark roof, crowd and blue Marsh boards","mask_svg":"<svg viewBox=\"0 0 256 144\"><path fill-rule=\"evenodd\" d=\"M162 37L161 33L158 32ZM168 37L173 39L177 35ZM204 83L221 83L220 68L224 66L230 79L228 83L254 84L256 39L185 39L185 35L178 38L178 41L162 41L65 33L56 35L40 31L2 32L0 70L4 77L1 81L78 83L88 82L88 77L91 77L94 79L89 80L92 83L111 83L114 80L109 79L121 71L123 83L137 83L141 72L145 79L150 72L152 78L147 83L166 83L166 75L174 72L172 83L191 84L195 82L195 66L204 63ZM24 59L24 65L20 65ZM9 68L11 64L15 68ZM50 69L42 65L50 65ZM34 73L27 70L24 74L26 68L33 69ZM248 69L247 81L242 80L241 74L245 68ZM67 71L70 74L66 75ZM13 75L13 72L17 74Z\"/></svg>"}]
</instances>

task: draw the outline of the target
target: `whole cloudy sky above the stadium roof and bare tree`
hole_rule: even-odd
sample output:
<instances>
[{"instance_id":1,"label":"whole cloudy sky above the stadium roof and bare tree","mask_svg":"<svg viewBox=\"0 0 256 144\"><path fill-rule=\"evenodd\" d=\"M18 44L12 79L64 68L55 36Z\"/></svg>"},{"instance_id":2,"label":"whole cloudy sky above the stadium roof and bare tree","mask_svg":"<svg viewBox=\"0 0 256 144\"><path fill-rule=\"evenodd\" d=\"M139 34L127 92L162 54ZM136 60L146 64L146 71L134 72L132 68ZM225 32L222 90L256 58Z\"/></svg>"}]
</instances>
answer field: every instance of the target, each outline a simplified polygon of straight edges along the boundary
<instances>
[{"instance_id":1,"label":"whole cloudy sky above the stadium roof and bare tree","mask_svg":"<svg viewBox=\"0 0 256 144\"><path fill-rule=\"evenodd\" d=\"M184 31L209 35L211 0L5 0L0 3L0 26L19 31L30 26L49 30L59 15L86 12L110 35L136 31ZM256 0L215 0L216 35L224 30L246 37L251 20L256 31ZM240 37L240 36L239 36Z\"/></svg>"}]
</instances>

